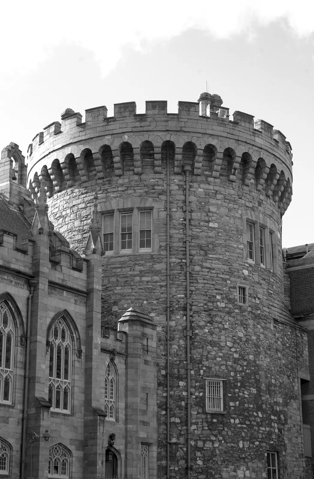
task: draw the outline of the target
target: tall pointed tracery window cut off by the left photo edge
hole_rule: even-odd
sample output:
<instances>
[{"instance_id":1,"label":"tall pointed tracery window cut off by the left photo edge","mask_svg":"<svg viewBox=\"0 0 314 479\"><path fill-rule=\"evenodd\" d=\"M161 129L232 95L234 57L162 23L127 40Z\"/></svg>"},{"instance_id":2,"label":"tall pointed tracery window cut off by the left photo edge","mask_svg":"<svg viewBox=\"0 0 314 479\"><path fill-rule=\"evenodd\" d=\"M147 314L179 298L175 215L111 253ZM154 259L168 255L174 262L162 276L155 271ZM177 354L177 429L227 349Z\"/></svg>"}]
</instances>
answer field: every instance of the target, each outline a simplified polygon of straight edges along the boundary
<instances>
[{"instance_id":1,"label":"tall pointed tracery window cut off by the left photo edge","mask_svg":"<svg viewBox=\"0 0 314 479\"><path fill-rule=\"evenodd\" d=\"M0 304L0 403L12 404L15 326L5 301Z\"/></svg>"}]
</instances>

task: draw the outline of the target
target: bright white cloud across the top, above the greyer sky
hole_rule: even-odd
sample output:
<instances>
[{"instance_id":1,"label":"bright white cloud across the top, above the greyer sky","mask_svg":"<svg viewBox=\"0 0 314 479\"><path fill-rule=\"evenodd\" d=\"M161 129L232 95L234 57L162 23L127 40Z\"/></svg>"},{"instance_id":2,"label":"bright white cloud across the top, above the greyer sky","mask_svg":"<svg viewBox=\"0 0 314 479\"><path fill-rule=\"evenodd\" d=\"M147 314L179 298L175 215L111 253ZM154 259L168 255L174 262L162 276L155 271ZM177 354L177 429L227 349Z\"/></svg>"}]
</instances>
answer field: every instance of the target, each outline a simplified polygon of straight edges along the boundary
<instances>
[{"instance_id":1,"label":"bright white cloud across the top, above the greyer sky","mask_svg":"<svg viewBox=\"0 0 314 479\"><path fill-rule=\"evenodd\" d=\"M299 37L314 31L314 6L309 0L195 0L185 8L177 0L64 0L6 2L2 7L1 69L9 76L32 71L57 45L80 45L94 53L103 75L112 70L126 47L147 50L197 28L215 38L230 38L254 25L284 20ZM83 72L77 72L78 78Z\"/></svg>"}]
</instances>

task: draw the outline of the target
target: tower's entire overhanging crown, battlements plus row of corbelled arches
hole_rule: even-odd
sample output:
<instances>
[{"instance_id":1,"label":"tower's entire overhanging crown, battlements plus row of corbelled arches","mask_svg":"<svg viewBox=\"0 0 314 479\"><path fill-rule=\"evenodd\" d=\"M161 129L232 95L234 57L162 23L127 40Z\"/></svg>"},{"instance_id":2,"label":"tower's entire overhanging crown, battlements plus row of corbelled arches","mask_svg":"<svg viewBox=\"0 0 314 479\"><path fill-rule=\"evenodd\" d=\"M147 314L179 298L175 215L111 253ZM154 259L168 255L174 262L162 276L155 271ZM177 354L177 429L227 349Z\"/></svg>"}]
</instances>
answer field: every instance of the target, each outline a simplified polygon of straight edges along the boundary
<instances>
[{"instance_id":1,"label":"tower's entire overhanging crown, battlements plus row of corbelled arches","mask_svg":"<svg viewBox=\"0 0 314 479\"><path fill-rule=\"evenodd\" d=\"M164 174L170 154L174 174L190 164L195 181L226 181L255 188L272 197L281 214L292 194L292 153L286 137L264 120L240 111L229 119L219 95L201 93L198 102L178 102L178 113L167 113L167 102L117 103L114 116L100 106L82 115L67 108L33 138L29 147L28 186L33 198L45 179L47 197L66 188L88 186L116 177Z\"/></svg>"}]
</instances>

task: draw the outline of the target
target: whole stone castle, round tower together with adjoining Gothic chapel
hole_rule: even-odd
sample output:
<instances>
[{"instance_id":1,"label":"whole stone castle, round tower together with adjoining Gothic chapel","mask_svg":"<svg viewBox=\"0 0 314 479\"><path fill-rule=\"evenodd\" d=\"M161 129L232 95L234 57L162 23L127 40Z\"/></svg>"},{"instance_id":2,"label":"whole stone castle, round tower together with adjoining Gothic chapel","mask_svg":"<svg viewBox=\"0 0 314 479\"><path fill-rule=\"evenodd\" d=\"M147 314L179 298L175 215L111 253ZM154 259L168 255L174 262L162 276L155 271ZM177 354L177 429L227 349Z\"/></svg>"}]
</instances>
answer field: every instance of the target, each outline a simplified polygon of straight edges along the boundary
<instances>
[{"instance_id":1,"label":"whole stone castle, round tower together with adjoining Gothic chapel","mask_svg":"<svg viewBox=\"0 0 314 479\"><path fill-rule=\"evenodd\" d=\"M27 178L2 151L3 470L313 478L307 323L281 251L290 143L209 93L81 119L33 138Z\"/></svg>"}]
</instances>

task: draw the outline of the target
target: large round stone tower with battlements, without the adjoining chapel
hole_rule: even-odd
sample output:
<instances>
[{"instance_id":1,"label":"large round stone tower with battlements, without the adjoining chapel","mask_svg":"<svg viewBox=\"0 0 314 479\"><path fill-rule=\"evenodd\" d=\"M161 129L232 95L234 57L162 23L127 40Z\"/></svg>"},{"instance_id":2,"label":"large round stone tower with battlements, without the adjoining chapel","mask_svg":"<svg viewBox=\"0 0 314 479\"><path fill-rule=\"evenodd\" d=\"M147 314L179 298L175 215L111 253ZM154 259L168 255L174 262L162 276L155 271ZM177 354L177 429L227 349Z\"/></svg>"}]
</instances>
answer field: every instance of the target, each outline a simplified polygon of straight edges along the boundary
<instances>
[{"instance_id":1,"label":"large round stone tower with battlements, without the adjoining chapel","mask_svg":"<svg viewBox=\"0 0 314 479\"><path fill-rule=\"evenodd\" d=\"M85 123L67 108L33 139L27 181L35 198L45 180L49 218L80 253L97 195L103 320L133 307L157 325L158 474L262 478L274 453L292 477L303 346L283 290L291 146L221 105L209 93L177 114L119 103Z\"/></svg>"}]
</instances>

